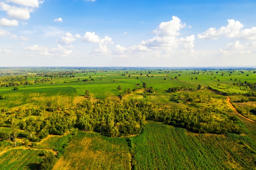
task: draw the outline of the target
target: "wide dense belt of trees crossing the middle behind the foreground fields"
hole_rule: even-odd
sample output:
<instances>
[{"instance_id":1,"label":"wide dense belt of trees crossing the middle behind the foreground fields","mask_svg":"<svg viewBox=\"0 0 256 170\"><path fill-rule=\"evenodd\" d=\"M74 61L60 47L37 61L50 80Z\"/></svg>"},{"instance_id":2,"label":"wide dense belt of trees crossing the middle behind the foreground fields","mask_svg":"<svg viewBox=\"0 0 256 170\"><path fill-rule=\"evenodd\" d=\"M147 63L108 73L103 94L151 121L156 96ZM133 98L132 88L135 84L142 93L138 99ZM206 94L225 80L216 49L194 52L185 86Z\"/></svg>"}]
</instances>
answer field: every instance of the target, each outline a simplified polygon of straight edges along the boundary
<instances>
[{"instance_id":1,"label":"wide dense belt of trees crossing the middle behind the foreground fields","mask_svg":"<svg viewBox=\"0 0 256 170\"><path fill-rule=\"evenodd\" d=\"M43 116L24 120L27 115ZM139 134L147 119L200 133L240 134L245 131L238 118L230 117L221 110L159 109L140 100L91 102L87 99L75 108L52 112L43 108L16 112L2 109L0 122L2 126L14 129L12 133L1 135L5 139L9 137L11 140L13 136L15 141L15 132L21 129L25 130L23 137L30 141L39 141L49 134L63 135L65 132L73 132L76 128L111 137Z\"/></svg>"}]
</instances>

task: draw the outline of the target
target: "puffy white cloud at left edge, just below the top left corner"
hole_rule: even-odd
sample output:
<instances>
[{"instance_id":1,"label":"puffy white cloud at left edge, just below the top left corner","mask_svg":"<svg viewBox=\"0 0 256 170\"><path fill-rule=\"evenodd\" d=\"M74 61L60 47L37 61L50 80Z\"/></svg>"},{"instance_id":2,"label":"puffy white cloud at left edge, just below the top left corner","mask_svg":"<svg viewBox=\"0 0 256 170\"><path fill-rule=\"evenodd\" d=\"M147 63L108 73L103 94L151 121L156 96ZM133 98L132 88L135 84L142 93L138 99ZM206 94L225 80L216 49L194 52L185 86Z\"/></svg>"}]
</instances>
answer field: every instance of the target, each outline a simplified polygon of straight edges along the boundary
<instances>
[{"instance_id":1,"label":"puffy white cloud at left edge, just below the top left corner","mask_svg":"<svg viewBox=\"0 0 256 170\"><path fill-rule=\"evenodd\" d=\"M33 9L28 9L27 7L15 7L0 2L0 10L7 11L7 15L13 19L28 20L30 18L29 13L34 12Z\"/></svg>"}]
</instances>

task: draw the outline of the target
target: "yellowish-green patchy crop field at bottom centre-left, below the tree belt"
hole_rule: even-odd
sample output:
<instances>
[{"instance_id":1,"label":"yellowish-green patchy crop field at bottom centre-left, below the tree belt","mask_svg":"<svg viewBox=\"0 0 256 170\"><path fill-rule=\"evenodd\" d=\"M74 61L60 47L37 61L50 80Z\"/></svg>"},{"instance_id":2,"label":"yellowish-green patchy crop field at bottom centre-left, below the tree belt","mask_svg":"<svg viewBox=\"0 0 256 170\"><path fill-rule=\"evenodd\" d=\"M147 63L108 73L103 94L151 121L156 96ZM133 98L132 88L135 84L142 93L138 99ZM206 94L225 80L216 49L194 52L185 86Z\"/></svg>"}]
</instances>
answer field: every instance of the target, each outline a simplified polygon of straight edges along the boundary
<instances>
[{"instance_id":1,"label":"yellowish-green patchy crop field at bottom centre-left, below the tree belt","mask_svg":"<svg viewBox=\"0 0 256 170\"><path fill-rule=\"evenodd\" d=\"M72 138L54 170L130 170L130 155L125 138L102 137L79 132Z\"/></svg>"}]
</instances>

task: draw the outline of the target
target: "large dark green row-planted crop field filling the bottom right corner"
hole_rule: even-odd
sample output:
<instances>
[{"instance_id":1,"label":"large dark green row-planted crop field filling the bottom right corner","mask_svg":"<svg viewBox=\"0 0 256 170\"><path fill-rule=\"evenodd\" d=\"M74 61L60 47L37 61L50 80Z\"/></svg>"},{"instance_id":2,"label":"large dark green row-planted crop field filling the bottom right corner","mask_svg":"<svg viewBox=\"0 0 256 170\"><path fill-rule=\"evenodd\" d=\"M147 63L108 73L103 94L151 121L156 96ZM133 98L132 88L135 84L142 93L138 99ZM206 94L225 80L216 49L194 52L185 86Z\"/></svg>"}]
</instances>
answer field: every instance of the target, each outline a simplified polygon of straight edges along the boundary
<instances>
[{"instance_id":1,"label":"large dark green row-planted crop field filling the bottom right corner","mask_svg":"<svg viewBox=\"0 0 256 170\"><path fill-rule=\"evenodd\" d=\"M256 145L247 136L195 134L148 122L130 143L137 170L255 170Z\"/></svg>"}]
</instances>

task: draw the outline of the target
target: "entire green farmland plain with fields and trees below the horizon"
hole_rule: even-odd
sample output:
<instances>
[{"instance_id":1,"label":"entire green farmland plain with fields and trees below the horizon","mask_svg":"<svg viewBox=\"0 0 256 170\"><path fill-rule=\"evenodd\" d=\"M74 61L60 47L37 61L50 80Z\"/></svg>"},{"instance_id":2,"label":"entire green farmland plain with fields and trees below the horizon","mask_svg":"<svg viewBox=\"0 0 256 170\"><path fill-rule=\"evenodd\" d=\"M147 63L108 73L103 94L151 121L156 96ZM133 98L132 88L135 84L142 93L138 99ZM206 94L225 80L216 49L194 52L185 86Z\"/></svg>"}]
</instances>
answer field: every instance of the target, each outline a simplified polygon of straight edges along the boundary
<instances>
[{"instance_id":1,"label":"entire green farmland plain with fields and trees below the horizon","mask_svg":"<svg viewBox=\"0 0 256 170\"><path fill-rule=\"evenodd\" d=\"M6 170L255 170L255 121L254 69L0 68Z\"/></svg>"}]
</instances>

